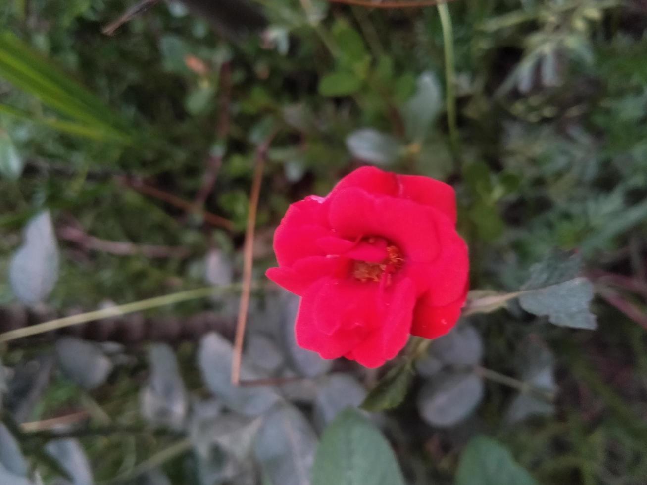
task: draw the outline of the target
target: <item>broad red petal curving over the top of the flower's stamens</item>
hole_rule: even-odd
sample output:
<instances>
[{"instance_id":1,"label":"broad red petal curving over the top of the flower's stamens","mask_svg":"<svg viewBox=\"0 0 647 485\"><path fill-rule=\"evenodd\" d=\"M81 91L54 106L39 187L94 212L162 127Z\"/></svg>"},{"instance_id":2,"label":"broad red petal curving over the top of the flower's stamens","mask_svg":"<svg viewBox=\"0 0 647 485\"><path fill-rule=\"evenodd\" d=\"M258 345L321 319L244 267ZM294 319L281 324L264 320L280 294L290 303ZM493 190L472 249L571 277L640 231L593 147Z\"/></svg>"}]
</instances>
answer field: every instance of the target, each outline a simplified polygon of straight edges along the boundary
<instances>
[{"instance_id":1,"label":"broad red petal curving over the top of the flower's stamens","mask_svg":"<svg viewBox=\"0 0 647 485\"><path fill-rule=\"evenodd\" d=\"M373 197L355 188L336 192L330 202L330 224L348 239L385 237L410 261L430 262L438 254L435 224L425 206L411 200Z\"/></svg>"}]
</instances>

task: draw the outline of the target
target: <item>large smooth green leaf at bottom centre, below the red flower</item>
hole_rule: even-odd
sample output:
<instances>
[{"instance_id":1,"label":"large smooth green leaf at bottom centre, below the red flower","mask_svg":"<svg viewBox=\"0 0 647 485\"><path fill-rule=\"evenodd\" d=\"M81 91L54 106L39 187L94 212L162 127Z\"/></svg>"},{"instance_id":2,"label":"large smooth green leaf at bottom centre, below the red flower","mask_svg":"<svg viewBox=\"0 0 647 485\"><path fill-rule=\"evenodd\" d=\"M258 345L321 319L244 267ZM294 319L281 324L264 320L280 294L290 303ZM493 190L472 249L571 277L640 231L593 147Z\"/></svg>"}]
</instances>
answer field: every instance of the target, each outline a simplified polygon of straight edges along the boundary
<instances>
[{"instance_id":1,"label":"large smooth green leaf at bottom centre, below the red flower","mask_svg":"<svg viewBox=\"0 0 647 485\"><path fill-rule=\"evenodd\" d=\"M393 450L380 431L355 409L341 413L323 436L312 485L404 485Z\"/></svg>"}]
</instances>

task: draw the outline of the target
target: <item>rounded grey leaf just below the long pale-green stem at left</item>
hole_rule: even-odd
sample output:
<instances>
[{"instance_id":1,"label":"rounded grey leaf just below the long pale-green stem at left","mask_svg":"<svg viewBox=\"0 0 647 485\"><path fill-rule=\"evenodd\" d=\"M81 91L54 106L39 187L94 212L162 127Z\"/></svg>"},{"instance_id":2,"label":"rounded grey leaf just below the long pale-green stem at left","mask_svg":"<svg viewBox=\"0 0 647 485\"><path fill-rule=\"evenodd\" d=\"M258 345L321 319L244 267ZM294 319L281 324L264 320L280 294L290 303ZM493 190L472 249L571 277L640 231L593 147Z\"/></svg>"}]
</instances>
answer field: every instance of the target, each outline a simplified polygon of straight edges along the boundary
<instances>
[{"instance_id":1,"label":"rounded grey leaf just below the long pale-green stem at left","mask_svg":"<svg viewBox=\"0 0 647 485\"><path fill-rule=\"evenodd\" d=\"M65 376L85 389L102 385L113 369L113 363L96 343L63 337L54 348Z\"/></svg>"}]
</instances>

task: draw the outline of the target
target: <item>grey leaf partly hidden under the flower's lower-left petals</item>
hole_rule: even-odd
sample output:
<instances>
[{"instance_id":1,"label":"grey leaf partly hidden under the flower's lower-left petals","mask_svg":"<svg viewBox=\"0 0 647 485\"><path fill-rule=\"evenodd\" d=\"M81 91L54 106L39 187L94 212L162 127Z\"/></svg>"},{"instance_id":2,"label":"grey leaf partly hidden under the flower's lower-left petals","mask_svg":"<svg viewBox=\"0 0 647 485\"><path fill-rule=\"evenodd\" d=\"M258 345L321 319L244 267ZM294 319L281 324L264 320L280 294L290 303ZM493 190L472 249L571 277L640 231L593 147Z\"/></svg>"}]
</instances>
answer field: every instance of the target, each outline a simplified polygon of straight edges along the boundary
<instances>
[{"instance_id":1,"label":"grey leaf partly hidden under the flower's lower-left petals","mask_svg":"<svg viewBox=\"0 0 647 485\"><path fill-rule=\"evenodd\" d=\"M285 293L281 296L283 316L280 331L283 335L283 343L287 350L287 355L294 367L305 377L316 377L328 372L333 366L332 360L322 359L319 354L311 350L303 349L296 343L296 334L294 332L294 322L299 310L300 297Z\"/></svg>"}]
</instances>

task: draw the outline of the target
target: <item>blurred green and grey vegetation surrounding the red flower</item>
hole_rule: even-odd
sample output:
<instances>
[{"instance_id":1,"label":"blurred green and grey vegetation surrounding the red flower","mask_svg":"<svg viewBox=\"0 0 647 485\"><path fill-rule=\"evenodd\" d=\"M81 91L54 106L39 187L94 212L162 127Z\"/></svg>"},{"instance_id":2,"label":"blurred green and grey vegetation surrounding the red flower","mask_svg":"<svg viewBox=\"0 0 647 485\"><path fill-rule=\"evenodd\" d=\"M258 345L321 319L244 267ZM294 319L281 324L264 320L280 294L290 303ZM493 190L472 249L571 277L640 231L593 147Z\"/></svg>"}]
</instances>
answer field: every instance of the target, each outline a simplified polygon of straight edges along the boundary
<instances>
[{"instance_id":1,"label":"blurred green and grey vegetation surrounding the red flower","mask_svg":"<svg viewBox=\"0 0 647 485\"><path fill-rule=\"evenodd\" d=\"M0 5L0 332L103 309L0 334L0 484L647 482L644 1L144 5L111 36L132 3ZM377 372L298 349L263 277L287 206L365 163L454 185L478 290ZM270 381L236 388L263 164Z\"/></svg>"}]
</instances>

